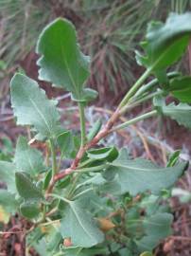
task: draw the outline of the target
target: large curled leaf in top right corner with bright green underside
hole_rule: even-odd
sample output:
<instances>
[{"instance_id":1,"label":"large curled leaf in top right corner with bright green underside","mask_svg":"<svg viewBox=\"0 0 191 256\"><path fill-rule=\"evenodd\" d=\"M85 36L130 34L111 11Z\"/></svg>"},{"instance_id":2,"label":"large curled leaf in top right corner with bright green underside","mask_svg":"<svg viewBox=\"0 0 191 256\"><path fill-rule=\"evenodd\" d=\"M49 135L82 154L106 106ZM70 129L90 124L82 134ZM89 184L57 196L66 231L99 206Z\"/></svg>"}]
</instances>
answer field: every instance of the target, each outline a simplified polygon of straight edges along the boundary
<instances>
[{"instance_id":1,"label":"large curled leaf in top right corner with bright green underside","mask_svg":"<svg viewBox=\"0 0 191 256\"><path fill-rule=\"evenodd\" d=\"M191 12L187 12L171 13L165 24L151 22L148 25L146 41L142 43L147 55L138 54L138 63L156 71L177 62L189 44L190 20Z\"/></svg>"}]
</instances>

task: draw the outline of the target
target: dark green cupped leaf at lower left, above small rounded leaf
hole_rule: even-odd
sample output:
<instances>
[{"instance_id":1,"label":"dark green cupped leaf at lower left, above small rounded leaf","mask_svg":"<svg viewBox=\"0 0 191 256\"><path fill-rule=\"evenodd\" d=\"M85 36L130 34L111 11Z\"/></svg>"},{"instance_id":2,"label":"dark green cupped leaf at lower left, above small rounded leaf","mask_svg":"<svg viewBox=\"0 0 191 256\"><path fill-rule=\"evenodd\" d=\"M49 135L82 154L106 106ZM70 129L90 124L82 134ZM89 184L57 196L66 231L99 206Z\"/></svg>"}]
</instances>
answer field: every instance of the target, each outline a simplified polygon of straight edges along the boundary
<instances>
[{"instance_id":1,"label":"dark green cupped leaf at lower left, above small rounded leaf","mask_svg":"<svg viewBox=\"0 0 191 256\"><path fill-rule=\"evenodd\" d=\"M15 173L17 191L27 200L39 201L43 199L42 192L32 183L26 173Z\"/></svg>"}]
</instances>

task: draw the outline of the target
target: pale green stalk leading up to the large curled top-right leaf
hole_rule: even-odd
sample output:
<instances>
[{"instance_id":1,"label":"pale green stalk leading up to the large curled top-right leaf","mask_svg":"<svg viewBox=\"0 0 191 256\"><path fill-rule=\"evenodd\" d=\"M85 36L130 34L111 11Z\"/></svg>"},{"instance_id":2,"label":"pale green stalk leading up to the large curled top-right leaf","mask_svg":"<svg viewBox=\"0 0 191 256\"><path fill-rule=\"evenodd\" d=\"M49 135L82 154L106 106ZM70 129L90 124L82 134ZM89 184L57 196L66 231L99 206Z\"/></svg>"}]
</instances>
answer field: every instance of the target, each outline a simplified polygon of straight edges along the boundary
<instances>
[{"instance_id":1,"label":"pale green stalk leading up to the large curled top-right leaf","mask_svg":"<svg viewBox=\"0 0 191 256\"><path fill-rule=\"evenodd\" d=\"M121 109L123 106L127 104L127 102L130 100L130 98L136 93L137 89L142 85L142 83L148 78L149 74L151 72L151 69L148 68L145 73L137 80L137 82L132 85L130 88L130 91L126 94L124 99L120 102L118 109Z\"/></svg>"}]
</instances>

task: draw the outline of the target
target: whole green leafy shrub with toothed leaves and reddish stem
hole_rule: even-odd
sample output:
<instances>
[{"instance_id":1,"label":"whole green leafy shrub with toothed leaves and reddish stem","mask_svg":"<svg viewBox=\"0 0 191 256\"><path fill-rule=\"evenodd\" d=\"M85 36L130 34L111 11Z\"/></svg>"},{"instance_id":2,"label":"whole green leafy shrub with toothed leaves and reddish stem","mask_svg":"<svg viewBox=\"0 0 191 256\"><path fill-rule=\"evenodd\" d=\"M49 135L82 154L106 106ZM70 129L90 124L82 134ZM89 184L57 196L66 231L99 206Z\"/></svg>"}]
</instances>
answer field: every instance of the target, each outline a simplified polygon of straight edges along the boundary
<instances>
[{"instance_id":1,"label":"whole green leafy shrub with toothed leaves and reddish stem","mask_svg":"<svg viewBox=\"0 0 191 256\"><path fill-rule=\"evenodd\" d=\"M146 71L111 119L105 124L97 120L89 133L84 112L97 96L85 86L90 59L80 51L69 21L60 18L43 29L36 48L39 78L71 93L71 101L78 104L81 136L61 127L57 102L48 100L37 82L14 75L10 94L17 124L30 126L32 141L43 141L52 157L51 166L45 164L31 141L19 137L13 162L0 161L0 177L8 187L0 191L0 204L5 212L19 212L29 220L24 230L27 251L34 247L40 255L51 256L151 255L170 234L173 217L162 201L187 162L175 152L160 167L146 159L132 159L126 148L97 145L111 133L157 115L191 127L191 77L166 71L188 46L190 19L191 13L172 13L165 24L148 25L141 44L145 53L136 52L138 64ZM169 95L172 102L166 104ZM118 123L124 113L150 99L151 111ZM72 164L62 170L61 163L68 158Z\"/></svg>"}]
</instances>

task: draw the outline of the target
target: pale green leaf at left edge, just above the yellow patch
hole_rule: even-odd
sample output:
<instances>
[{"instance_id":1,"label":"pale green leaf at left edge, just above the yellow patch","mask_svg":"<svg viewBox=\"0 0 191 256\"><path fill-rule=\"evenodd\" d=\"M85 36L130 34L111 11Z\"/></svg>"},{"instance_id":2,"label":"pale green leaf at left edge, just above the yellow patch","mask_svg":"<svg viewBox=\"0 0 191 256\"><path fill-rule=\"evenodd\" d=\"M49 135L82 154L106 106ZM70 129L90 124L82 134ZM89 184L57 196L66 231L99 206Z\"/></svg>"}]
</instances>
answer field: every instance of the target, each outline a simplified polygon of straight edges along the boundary
<instances>
[{"instance_id":1,"label":"pale green leaf at left edge, just above the yellow patch","mask_svg":"<svg viewBox=\"0 0 191 256\"><path fill-rule=\"evenodd\" d=\"M17 210L17 201L15 200L14 195L6 190L0 190L0 205L12 214Z\"/></svg>"}]
</instances>

